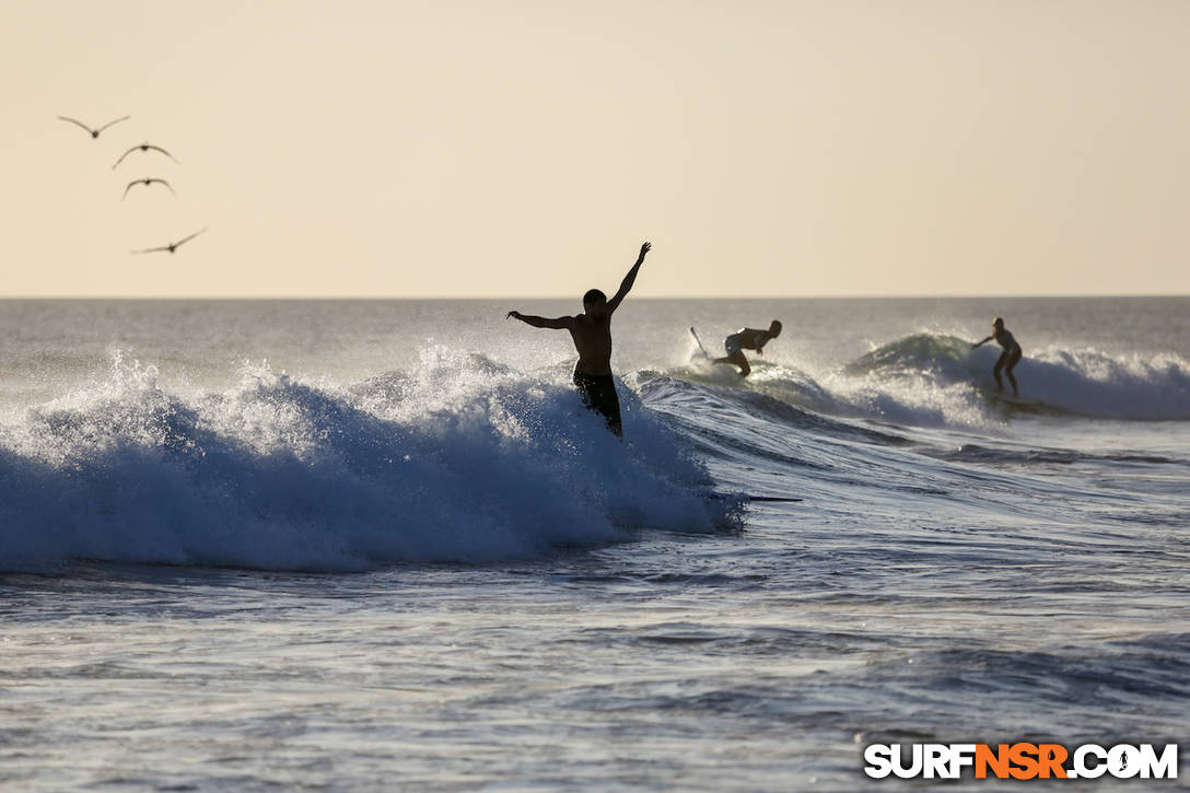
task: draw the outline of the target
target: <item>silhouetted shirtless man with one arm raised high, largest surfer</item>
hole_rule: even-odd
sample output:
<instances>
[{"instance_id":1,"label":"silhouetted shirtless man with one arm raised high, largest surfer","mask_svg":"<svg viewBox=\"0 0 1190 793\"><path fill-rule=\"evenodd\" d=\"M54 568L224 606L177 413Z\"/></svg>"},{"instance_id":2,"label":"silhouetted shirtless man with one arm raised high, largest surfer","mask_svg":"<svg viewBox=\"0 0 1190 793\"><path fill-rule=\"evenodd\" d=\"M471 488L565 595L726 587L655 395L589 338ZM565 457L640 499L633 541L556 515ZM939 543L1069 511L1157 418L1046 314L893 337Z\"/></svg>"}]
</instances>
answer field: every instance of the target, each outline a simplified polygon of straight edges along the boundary
<instances>
[{"instance_id":1,"label":"silhouetted shirtless man with one arm raised high, largest surfer","mask_svg":"<svg viewBox=\"0 0 1190 793\"><path fill-rule=\"evenodd\" d=\"M640 246L640 256L620 283L620 291L610 300L599 289L589 289L583 295L583 313L577 317L531 317L519 311L509 311L508 317L519 319L533 327L550 327L570 331L570 338L578 351L575 364L575 387L583 398L583 404L597 411L607 420L607 429L622 437L620 425L620 398L615 394L615 379L612 377L612 314L620 307L628 291L637 280L637 273L645 262L645 254L652 249L652 243ZM507 317L506 317L507 319Z\"/></svg>"}]
</instances>

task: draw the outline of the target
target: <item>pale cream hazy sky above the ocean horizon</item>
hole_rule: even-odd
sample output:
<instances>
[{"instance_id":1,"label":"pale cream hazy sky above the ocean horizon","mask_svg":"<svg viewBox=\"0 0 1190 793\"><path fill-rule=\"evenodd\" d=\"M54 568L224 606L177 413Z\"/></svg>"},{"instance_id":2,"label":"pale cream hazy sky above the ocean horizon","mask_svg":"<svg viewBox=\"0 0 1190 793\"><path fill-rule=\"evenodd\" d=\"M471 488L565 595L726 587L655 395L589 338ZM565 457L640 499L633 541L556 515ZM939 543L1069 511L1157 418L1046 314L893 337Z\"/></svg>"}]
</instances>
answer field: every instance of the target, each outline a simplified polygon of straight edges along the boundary
<instances>
[{"instance_id":1,"label":"pale cream hazy sky above the ocean horizon","mask_svg":"<svg viewBox=\"0 0 1190 793\"><path fill-rule=\"evenodd\" d=\"M640 296L1190 294L1180 0L12 0L0 51L0 296L576 296L644 239Z\"/></svg>"}]
</instances>

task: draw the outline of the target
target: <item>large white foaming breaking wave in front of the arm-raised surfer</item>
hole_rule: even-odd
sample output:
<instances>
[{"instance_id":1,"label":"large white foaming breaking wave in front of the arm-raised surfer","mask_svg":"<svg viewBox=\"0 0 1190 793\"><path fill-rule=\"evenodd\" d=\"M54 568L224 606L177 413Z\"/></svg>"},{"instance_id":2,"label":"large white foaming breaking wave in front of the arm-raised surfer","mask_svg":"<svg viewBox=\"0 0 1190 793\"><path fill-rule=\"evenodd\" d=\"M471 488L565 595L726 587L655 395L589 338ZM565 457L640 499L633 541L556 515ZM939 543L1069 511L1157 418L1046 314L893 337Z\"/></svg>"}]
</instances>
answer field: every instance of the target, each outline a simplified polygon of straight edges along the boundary
<instances>
[{"instance_id":1,"label":"large white foaming breaking wave in front of the arm-raised surfer","mask_svg":"<svg viewBox=\"0 0 1190 793\"><path fill-rule=\"evenodd\" d=\"M418 371L338 388L261 368L183 398L117 356L0 427L0 569L482 562L737 520L626 388L620 443L568 385L441 349Z\"/></svg>"}]
</instances>

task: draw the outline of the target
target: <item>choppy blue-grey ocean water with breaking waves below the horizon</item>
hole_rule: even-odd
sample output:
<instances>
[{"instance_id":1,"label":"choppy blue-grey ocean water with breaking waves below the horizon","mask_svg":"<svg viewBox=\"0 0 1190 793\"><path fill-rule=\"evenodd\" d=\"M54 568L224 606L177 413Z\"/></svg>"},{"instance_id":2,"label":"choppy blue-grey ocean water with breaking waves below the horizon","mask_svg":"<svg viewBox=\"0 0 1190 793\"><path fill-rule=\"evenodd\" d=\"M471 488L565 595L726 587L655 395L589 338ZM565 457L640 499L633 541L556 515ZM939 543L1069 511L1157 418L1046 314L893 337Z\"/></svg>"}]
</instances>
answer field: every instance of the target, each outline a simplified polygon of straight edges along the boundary
<instances>
[{"instance_id":1,"label":"choppy blue-grey ocean water with breaking waves below the horizon","mask_svg":"<svg viewBox=\"0 0 1190 793\"><path fill-rule=\"evenodd\" d=\"M0 301L0 788L1190 768L1190 299L630 298L624 443L511 308L577 306ZM746 381L688 332L772 318Z\"/></svg>"}]
</instances>

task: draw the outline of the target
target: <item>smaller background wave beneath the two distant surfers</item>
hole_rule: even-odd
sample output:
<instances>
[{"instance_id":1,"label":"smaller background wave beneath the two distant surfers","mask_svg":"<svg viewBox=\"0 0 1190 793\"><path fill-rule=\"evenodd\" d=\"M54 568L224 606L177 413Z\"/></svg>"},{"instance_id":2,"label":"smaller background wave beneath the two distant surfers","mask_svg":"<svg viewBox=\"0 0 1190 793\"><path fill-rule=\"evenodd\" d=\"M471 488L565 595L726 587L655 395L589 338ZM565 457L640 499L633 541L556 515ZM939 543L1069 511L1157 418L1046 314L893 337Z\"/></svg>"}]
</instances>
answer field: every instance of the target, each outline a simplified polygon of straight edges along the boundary
<instances>
[{"instance_id":1,"label":"smaller background wave beneath the two distant surfers","mask_svg":"<svg viewBox=\"0 0 1190 793\"><path fill-rule=\"evenodd\" d=\"M697 382L745 387L791 405L841 416L917 426L1002 423L1032 413L1116 420L1190 419L1190 361L1172 354L1108 355L1051 345L1026 351L1015 369L1020 400L1004 380L1000 399L992 369L1000 348L954 336L914 333L819 373L752 362L745 380L734 367L697 355L675 374Z\"/></svg>"}]
</instances>

